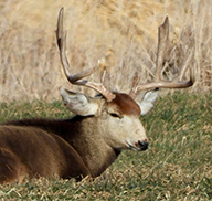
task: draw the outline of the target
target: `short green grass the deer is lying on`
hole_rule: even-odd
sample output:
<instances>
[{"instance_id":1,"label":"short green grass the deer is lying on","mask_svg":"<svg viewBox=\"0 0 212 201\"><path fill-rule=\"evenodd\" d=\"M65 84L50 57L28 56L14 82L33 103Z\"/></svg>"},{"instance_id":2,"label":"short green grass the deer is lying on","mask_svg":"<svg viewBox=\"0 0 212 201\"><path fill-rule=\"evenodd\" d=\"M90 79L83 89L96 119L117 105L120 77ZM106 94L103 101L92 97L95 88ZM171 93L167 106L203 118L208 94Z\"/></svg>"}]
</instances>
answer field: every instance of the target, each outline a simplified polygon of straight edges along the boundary
<instances>
[{"instance_id":1,"label":"short green grass the deer is lying on","mask_svg":"<svg viewBox=\"0 0 212 201\"><path fill-rule=\"evenodd\" d=\"M65 118L61 102L0 104L0 121ZM0 186L1 200L212 200L212 93L160 97L141 118L150 147L125 150L95 180L57 178Z\"/></svg>"}]
</instances>

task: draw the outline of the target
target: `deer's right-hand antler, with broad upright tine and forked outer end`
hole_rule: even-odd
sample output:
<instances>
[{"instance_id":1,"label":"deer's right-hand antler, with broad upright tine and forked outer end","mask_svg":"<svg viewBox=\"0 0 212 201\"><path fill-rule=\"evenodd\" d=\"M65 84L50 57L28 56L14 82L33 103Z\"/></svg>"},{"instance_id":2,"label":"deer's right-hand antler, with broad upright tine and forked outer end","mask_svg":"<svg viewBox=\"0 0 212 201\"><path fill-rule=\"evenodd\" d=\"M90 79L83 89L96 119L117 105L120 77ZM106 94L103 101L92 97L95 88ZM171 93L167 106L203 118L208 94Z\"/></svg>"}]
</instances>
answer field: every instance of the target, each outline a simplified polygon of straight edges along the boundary
<instances>
[{"instance_id":1,"label":"deer's right-hand antler, with broad upright tine and forked outer end","mask_svg":"<svg viewBox=\"0 0 212 201\"><path fill-rule=\"evenodd\" d=\"M163 81L162 80L162 63L165 55L167 53L169 43L169 18L167 17L165 19L163 24L159 27L158 31L158 52L157 52L157 61L156 61L156 76L155 81L151 83L145 83L138 86L138 76L136 75L134 78L132 87L129 93L131 97L136 97L137 94L140 91L146 89L153 89L153 88L186 88L189 86L192 86L194 83L194 74L193 71L190 68L190 80L189 81L182 81L186 71L189 67L189 63L193 55L193 50L188 53L188 56L186 56L186 60L183 61L182 68L179 73L179 75L173 81Z\"/></svg>"}]
</instances>

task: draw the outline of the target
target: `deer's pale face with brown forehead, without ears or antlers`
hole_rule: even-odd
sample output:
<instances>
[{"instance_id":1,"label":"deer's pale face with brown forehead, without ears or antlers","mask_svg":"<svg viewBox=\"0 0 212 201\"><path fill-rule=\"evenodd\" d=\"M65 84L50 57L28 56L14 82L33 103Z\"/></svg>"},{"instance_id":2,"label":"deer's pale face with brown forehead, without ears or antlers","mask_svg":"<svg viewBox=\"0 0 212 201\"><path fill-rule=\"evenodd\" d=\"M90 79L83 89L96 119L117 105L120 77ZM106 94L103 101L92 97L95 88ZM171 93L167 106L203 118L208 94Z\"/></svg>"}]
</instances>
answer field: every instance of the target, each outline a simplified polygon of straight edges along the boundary
<instances>
[{"instance_id":1,"label":"deer's pale face with brown forehead, without ears or antlers","mask_svg":"<svg viewBox=\"0 0 212 201\"><path fill-rule=\"evenodd\" d=\"M116 93L107 106L105 140L114 148L146 150L148 139L139 120L140 107L127 94Z\"/></svg>"}]
</instances>

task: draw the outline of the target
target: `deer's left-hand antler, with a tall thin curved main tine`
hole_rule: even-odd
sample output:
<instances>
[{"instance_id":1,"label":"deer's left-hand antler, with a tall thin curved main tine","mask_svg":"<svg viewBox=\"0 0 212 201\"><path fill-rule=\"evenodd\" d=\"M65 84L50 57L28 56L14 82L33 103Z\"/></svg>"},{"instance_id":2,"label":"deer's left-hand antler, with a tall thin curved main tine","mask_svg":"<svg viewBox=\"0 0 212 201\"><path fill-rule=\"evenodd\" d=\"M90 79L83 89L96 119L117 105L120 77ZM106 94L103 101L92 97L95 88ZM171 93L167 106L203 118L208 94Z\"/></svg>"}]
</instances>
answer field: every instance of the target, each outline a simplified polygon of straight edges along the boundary
<instances>
[{"instance_id":1,"label":"deer's left-hand antler, with a tall thin curved main tine","mask_svg":"<svg viewBox=\"0 0 212 201\"><path fill-rule=\"evenodd\" d=\"M95 71L99 68L102 65L100 60L98 61L98 65L94 66L92 68L88 68L86 71L80 72L75 75L72 75L70 73L70 63L67 61L67 56L65 54L65 47L66 47L66 34L63 31L63 11L64 9L62 8L59 12L59 18L57 18L57 30L56 30L56 40L57 40L57 46L60 50L60 57L61 57L61 63L65 73L65 76L67 80L75 85L82 85L82 86L88 86L97 92L99 92L108 102L115 98L115 94L113 94L110 91L106 89L103 85L105 72L103 73L102 82L100 83L94 83L89 82L86 80L82 80L91 74L93 74Z\"/></svg>"}]
</instances>

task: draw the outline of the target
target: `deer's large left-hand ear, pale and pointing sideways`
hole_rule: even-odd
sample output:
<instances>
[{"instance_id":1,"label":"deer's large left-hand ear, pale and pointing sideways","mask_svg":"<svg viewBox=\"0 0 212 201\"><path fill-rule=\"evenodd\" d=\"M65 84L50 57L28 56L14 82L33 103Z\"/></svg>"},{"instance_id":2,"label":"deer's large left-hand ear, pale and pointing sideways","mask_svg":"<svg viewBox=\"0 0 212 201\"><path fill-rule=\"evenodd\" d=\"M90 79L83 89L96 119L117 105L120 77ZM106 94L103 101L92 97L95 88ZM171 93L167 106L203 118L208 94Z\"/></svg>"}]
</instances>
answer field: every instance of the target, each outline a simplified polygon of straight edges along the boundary
<instances>
[{"instance_id":1,"label":"deer's large left-hand ear, pale and pointing sideways","mask_svg":"<svg viewBox=\"0 0 212 201\"><path fill-rule=\"evenodd\" d=\"M61 96L64 105L74 114L81 116L95 115L99 105L93 98L81 93L74 93L65 88L61 88Z\"/></svg>"}]
</instances>

